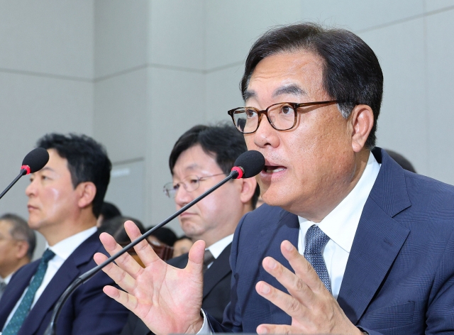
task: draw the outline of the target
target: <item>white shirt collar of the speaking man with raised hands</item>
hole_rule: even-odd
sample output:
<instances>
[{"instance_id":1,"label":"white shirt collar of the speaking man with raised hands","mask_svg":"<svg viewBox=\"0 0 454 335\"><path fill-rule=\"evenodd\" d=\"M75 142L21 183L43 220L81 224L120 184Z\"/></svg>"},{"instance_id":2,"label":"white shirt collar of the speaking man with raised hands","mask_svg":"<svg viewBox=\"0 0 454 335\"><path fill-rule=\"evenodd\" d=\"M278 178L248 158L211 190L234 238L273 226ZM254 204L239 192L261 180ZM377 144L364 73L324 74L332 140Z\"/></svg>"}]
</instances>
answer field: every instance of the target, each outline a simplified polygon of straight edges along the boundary
<instances>
[{"instance_id":1,"label":"white shirt collar of the speaking man with raised hands","mask_svg":"<svg viewBox=\"0 0 454 335\"><path fill-rule=\"evenodd\" d=\"M360 223L362 209L369 197L370 191L377 179L381 164L377 163L374 155L370 153L369 160L358 184L353 187L353 190L345 197L340 204L337 205L323 220L320 221L319 228L338 246L350 253L355 238L356 229ZM301 231L305 232L314 222L298 216Z\"/></svg>"}]
</instances>

